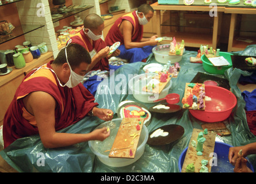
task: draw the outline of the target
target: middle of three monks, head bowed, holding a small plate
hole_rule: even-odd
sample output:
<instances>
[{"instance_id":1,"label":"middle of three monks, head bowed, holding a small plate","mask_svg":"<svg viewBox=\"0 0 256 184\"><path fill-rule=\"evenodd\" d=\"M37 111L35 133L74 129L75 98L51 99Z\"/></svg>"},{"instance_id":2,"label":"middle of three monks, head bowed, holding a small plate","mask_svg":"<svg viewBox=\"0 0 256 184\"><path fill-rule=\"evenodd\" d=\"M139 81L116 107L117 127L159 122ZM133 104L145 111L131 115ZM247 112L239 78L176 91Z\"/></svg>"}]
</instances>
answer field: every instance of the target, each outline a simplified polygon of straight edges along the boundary
<instances>
[{"instance_id":1,"label":"middle of three monks, head bowed, holding a small plate","mask_svg":"<svg viewBox=\"0 0 256 184\"><path fill-rule=\"evenodd\" d=\"M109 71L109 58L112 56L118 56L120 54L119 49L116 49L109 55L110 49L106 45L105 41L101 39L102 30L104 29L104 21L97 14L91 13L83 20L84 28L71 36L70 41L82 45L90 53L91 64L88 71ZM85 81L84 86L95 95L97 86L101 82L97 76L91 77L88 81Z\"/></svg>"}]
</instances>

